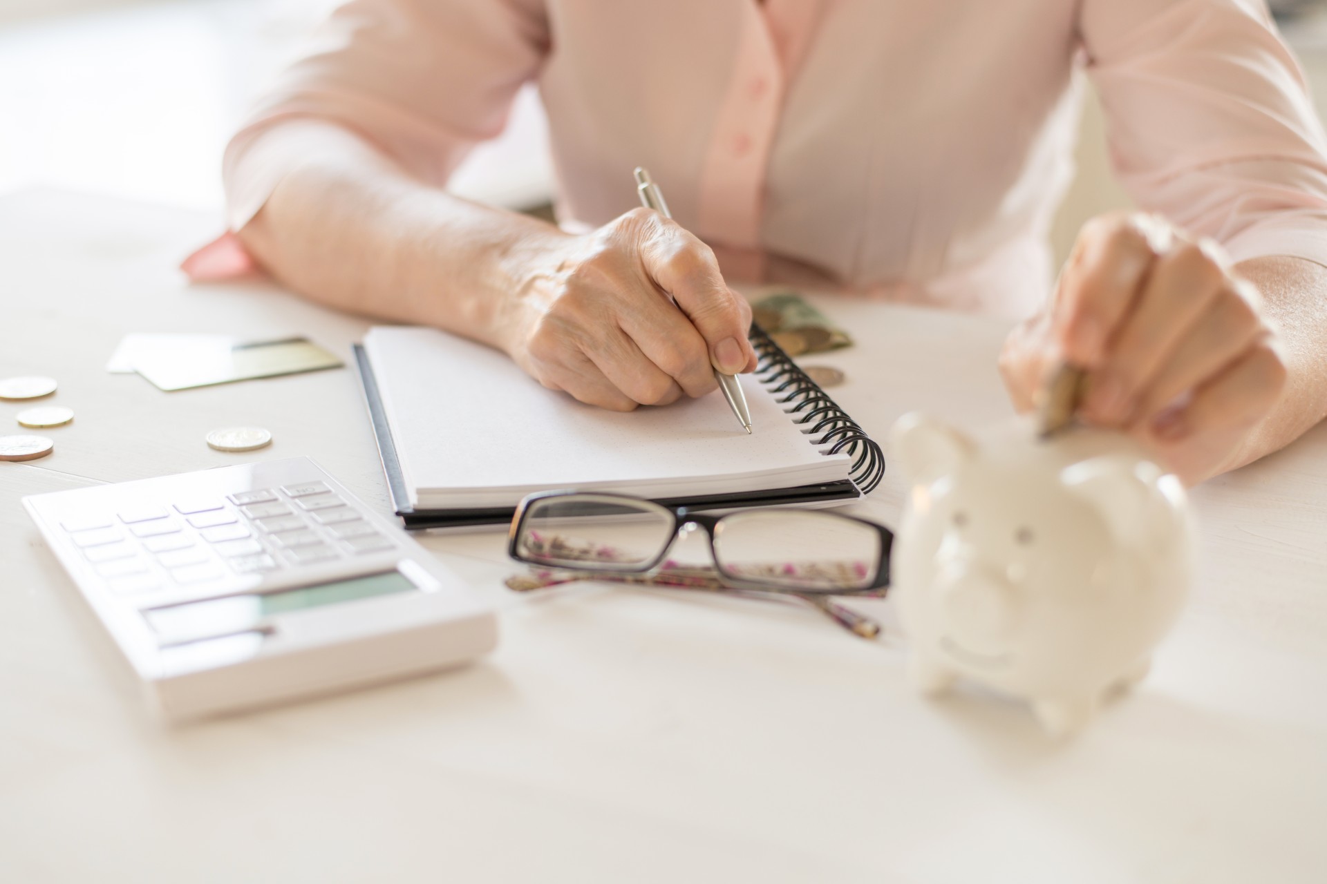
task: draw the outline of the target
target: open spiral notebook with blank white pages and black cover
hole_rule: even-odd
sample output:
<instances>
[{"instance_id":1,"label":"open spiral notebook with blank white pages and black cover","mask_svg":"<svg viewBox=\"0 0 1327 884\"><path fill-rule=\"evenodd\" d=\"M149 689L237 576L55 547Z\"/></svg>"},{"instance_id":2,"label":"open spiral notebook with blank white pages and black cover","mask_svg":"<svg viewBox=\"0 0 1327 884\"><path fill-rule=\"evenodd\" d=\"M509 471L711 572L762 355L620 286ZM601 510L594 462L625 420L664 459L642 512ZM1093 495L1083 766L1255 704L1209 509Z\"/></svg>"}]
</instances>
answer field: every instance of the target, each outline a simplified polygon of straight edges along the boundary
<instances>
[{"instance_id":1,"label":"open spiral notebook with blank white pages and black cover","mask_svg":"<svg viewBox=\"0 0 1327 884\"><path fill-rule=\"evenodd\" d=\"M693 509L824 506L871 492L880 447L758 326L751 342L750 436L719 392L604 411L435 329L377 326L354 355L406 527L506 524L525 494L567 488Z\"/></svg>"}]
</instances>

